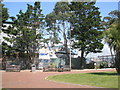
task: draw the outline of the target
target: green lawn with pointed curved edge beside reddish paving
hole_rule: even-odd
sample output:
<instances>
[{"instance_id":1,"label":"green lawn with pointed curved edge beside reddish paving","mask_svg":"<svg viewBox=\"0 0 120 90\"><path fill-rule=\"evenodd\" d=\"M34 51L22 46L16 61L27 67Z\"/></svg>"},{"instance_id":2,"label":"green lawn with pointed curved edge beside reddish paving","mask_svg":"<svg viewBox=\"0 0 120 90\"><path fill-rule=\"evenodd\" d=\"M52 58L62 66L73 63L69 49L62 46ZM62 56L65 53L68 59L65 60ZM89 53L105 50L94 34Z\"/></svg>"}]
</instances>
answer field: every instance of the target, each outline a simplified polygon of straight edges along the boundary
<instances>
[{"instance_id":1,"label":"green lawn with pointed curved edge beside reddish paving","mask_svg":"<svg viewBox=\"0 0 120 90\"><path fill-rule=\"evenodd\" d=\"M79 73L49 76L48 80L57 82L90 85L105 88L118 88L116 72Z\"/></svg>"}]
</instances>

